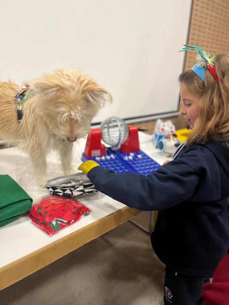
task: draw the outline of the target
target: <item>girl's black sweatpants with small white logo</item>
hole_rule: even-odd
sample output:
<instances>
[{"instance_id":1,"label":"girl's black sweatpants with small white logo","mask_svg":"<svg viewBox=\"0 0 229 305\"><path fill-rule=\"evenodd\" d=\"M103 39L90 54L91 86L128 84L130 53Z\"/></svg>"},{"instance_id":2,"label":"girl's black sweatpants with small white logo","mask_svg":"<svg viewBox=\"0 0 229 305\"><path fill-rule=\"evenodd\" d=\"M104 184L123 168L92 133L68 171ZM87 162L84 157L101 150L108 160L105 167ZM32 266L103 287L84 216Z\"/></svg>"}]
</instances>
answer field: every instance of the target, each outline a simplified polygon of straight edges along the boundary
<instances>
[{"instance_id":1,"label":"girl's black sweatpants with small white logo","mask_svg":"<svg viewBox=\"0 0 229 305\"><path fill-rule=\"evenodd\" d=\"M203 284L209 283L210 277L184 275L166 267L164 305L202 304Z\"/></svg>"}]
</instances>

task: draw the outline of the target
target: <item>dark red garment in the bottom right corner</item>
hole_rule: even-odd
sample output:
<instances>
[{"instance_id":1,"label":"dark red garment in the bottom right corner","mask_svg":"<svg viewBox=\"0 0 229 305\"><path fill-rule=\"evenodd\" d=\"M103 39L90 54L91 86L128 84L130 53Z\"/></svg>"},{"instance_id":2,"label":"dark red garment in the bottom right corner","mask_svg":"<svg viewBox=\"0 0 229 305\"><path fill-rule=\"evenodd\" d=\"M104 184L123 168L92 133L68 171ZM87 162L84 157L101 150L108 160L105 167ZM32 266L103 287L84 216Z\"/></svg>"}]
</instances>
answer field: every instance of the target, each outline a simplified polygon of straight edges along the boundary
<instances>
[{"instance_id":1,"label":"dark red garment in the bottom right corner","mask_svg":"<svg viewBox=\"0 0 229 305\"><path fill-rule=\"evenodd\" d=\"M203 305L229 304L229 254L219 263L212 283L203 286Z\"/></svg>"}]
</instances>

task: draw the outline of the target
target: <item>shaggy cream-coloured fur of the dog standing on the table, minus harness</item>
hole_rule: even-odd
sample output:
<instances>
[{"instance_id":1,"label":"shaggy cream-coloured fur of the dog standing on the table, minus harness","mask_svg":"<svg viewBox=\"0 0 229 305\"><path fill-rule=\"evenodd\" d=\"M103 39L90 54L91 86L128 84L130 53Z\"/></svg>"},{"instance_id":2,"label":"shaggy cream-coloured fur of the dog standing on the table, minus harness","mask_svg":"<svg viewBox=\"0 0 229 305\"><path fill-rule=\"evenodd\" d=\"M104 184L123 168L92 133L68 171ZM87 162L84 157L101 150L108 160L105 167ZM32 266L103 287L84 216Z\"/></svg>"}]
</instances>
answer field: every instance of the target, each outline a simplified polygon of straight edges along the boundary
<instances>
[{"instance_id":1,"label":"shaggy cream-coloured fur of the dog standing on the table, minus harness","mask_svg":"<svg viewBox=\"0 0 229 305\"><path fill-rule=\"evenodd\" d=\"M59 69L29 84L35 89L19 123L15 95L20 87L0 83L0 138L29 153L38 183L45 187L47 153L57 150L63 173L70 174L73 142L90 132L91 120L111 95L79 68Z\"/></svg>"}]
</instances>

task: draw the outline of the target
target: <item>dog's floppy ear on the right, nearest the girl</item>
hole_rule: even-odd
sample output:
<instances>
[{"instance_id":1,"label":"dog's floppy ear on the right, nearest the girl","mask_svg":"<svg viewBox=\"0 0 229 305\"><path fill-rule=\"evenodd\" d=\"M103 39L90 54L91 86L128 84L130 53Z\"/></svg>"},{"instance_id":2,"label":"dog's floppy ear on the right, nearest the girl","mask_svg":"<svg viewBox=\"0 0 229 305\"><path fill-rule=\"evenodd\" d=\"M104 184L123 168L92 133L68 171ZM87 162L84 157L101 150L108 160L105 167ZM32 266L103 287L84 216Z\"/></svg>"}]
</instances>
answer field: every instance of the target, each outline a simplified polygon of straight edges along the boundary
<instances>
[{"instance_id":1,"label":"dog's floppy ear on the right, nearest the girl","mask_svg":"<svg viewBox=\"0 0 229 305\"><path fill-rule=\"evenodd\" d=\"M104 106L104 102L112 102L112 96L103 87L100 87L99 90L85 91L86 100L96 108L101 109Z\"/></svg>"}]
</instances>

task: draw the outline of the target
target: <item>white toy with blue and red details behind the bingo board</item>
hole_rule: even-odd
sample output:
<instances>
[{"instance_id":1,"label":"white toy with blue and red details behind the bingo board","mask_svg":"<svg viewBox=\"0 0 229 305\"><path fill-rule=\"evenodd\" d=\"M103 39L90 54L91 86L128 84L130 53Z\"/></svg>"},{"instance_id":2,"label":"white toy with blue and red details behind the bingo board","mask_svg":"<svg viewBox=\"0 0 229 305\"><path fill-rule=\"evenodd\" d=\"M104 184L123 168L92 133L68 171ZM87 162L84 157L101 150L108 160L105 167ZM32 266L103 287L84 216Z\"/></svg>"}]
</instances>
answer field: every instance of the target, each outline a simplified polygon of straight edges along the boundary
<instances>
[{"instance_id":1,"label":"white toy with blue and red details behind the bingo board","mask_svg":"<svg viewBox=\"0 0 229 305\"><path fill-rule=\"evenodd\" d=\"M176 138L175 126L170 120L166 122L162 122L160 119L157 120L153 141L155 147L159 148L167 156L172 156L180 145L180 140Z\"/></svg>"}]
</instances>

